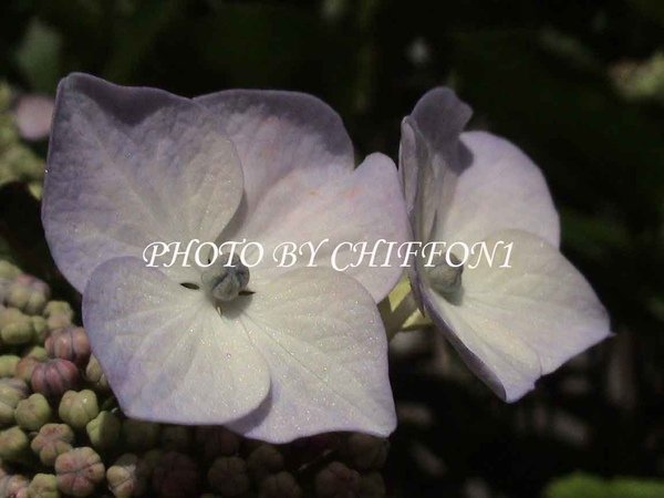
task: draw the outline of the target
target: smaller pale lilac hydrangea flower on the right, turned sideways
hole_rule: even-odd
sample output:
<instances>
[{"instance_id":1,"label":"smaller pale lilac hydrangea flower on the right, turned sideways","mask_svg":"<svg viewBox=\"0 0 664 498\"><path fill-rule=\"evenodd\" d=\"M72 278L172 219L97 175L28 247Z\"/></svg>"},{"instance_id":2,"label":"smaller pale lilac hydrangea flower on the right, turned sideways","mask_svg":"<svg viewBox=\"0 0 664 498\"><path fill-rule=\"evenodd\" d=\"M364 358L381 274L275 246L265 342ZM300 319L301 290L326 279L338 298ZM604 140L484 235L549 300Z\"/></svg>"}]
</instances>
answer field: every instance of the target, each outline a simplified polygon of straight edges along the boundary
<instances>
[{"instance_id":1,"label":"smaller pale lilac hydrangea flower on the right, turned sideways","mask_svg":"<svg viewBox=\"0 0 664 498\"><path fill-rule=\"evenodd\" d=\"M470 114L450 90L435 89L403 122L400 162L415 239L449 250L437 262L425 250L409 277L468 366L511 402L606 338L609 320L558 249L558 214L538 167L502 138L463 132ZM505 249L504 259L489 264L476 246L475 259L459 266L466 255L449 249L481 241ZM512 243L509 256L499 241Z\"/></svg>"}]
</instances>

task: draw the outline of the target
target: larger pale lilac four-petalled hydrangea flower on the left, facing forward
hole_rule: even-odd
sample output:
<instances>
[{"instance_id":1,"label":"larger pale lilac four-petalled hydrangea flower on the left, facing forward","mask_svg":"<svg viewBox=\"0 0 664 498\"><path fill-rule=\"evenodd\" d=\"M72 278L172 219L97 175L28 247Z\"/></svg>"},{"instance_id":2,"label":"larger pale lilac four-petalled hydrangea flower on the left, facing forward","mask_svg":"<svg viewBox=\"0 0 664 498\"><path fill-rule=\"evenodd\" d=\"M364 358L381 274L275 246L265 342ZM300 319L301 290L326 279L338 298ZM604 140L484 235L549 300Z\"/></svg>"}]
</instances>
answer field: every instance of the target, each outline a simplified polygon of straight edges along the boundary
<instances>
[{"instance_id":1,"label":"larger pale lilac four-petalled hydrangea flower on the left, facing forward","mask_svg":"<svg viewBox=\"0 0 664 498\"><path fill-rule=\"evenodd\" d=\"M329 268L326 249L318 268L266 256L250 272L142 260L154 241L246 238L270 255L283 241L405 240L394 164L373 154L355 169L341 120L319 100L188 100L70 75L56 96L42 218L128 416L226 424L269 442L394 429L375 302L398 267L344 273Z\"/></svg>"}]
</instances>

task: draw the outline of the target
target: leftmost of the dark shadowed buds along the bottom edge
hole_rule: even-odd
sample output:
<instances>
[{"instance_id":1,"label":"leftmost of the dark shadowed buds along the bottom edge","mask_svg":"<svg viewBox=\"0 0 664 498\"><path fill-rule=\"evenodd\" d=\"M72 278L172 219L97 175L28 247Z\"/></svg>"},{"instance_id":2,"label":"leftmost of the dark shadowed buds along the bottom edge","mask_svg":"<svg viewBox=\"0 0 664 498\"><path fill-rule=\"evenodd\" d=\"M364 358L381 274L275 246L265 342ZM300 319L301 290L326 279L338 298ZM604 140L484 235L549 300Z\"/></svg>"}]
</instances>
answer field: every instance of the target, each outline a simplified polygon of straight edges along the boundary
<instances>
[{"instance_id":1,"label":"leftmost of the dark shadowed buds along the bottom edge","mask_svg":"<svg viewBox=\"0 0 664 498\"><path fill-rule=\"evenodd\" d=\"M196 463L177 452L165 453L153 474L153 487L164 498L198 496L199 485Z\"/></svg>"}]
</instances>

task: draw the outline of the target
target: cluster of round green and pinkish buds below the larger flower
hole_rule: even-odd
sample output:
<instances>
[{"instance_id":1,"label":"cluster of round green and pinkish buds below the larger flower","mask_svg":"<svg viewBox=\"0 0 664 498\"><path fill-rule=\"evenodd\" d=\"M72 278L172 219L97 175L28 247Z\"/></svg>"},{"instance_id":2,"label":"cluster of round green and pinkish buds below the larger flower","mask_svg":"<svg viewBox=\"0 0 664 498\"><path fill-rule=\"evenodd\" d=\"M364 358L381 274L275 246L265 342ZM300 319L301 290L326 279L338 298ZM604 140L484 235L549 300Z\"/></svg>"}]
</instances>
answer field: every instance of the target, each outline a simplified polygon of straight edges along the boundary
<instances>
[{"instance_id":1,"label":"cluster of round green and pinkish buds below the larger flower","mask_svg":"<svg viewBox=\"0 0 664 498\"><path fill-rule=\"evenodd\" d=\"M335 433L270 445L220 426L126 417L72 308L4 261L0 279L44 298L0 295L0 330L20 336L0 343L0 497L385 496L385 439Z\"/></svg>"}]
</instances>

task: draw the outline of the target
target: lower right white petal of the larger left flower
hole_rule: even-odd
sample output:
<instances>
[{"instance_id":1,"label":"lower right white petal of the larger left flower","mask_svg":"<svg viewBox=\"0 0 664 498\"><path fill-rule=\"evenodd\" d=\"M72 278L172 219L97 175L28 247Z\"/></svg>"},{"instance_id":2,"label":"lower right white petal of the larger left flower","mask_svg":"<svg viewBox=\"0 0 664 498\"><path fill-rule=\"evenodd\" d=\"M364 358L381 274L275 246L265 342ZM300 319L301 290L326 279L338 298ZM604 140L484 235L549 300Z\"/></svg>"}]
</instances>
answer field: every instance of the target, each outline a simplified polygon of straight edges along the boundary
<instances>
[{"instance_id":1,"label":"lower right white petal of the larger left flower","mask_svg":"<svg viewBox=\"0 0 664 498\"><path fill-rule=\"evenodd\" d=\"M343 273L303 268L251 298L241 321L269 364L272 390L230 428L272 443L394 429L385 331L366 290Z\"/></svg>"}]
</instances>

